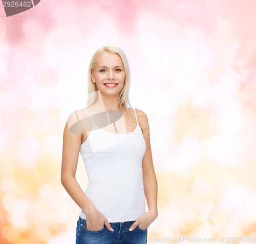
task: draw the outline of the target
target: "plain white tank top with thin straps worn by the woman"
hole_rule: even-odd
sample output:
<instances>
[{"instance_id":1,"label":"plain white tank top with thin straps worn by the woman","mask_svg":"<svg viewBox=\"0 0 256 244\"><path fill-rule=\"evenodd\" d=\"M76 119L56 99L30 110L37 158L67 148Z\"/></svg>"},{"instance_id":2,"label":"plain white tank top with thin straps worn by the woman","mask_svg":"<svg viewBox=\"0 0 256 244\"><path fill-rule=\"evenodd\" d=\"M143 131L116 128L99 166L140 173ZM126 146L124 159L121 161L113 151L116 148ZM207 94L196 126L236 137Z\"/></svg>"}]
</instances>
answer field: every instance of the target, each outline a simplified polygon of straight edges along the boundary
<instances>
[{"instance_id":1,"label":"plain white tank top with thin straps worn by the woman","mask_svg":"<svg viewBox=\"0 0 256 244\"><path fill-rule=\"evenodd\" d=\"M86 111L93 129L80 147L89 180L85 193L110 223L135 221L145 212L142 159L146 143L134 112L135 130L115 134L98 128ZM83 211L80 216L86 219Z\"/></svg>"}]
</instances>

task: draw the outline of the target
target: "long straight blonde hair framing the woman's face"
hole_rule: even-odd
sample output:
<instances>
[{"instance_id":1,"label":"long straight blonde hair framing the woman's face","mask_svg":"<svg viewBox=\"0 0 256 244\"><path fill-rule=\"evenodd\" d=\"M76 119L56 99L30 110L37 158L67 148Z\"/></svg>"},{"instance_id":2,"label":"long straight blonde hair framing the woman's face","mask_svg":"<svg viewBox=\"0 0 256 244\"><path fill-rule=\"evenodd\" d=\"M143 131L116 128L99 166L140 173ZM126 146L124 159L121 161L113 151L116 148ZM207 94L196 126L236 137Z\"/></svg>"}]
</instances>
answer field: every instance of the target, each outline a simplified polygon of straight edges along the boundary
<instances>
[{"instance_id":1,"label":"long straight blonde hair framing the woman's face","mask_svg":"<svg viewBox=\"0 0 256 244\"><path fill-rule=\"evenodd\" d=\"M121 50L121 48L118 46L102 46L92 56L92 59L91 59L90 65L89 65L89 70L88 70L87 106L93 105L98 99L98 92L97 92L98 88L97 88L97 85L92 82L91 72L94 69L94 66L97 61L98 56L104 52L118 54L120 56L120 58L123 62L123 68L124 68L124 72L125 72L125 82L124 82L123 88L119 94L118 104L120 106L125 106L125 108L127 108L127 105L129 105L132 108L131 103L129 101L129 92L130 92L130 87L131 87L130 67L129 67L129 63L128 63L126 55ZM129 112L129 110L128 110L128 112Z\"/></svg>"}]
</instances>

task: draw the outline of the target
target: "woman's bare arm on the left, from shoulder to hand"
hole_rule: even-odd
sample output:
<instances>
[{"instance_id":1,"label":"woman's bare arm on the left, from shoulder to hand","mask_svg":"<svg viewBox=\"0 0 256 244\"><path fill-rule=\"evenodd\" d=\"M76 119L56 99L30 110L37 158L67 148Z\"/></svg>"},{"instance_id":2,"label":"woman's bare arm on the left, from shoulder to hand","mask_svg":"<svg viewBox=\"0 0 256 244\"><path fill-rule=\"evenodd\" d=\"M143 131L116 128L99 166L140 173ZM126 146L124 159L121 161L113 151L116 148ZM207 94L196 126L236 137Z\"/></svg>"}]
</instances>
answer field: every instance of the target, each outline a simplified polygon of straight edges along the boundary
<instances>
[{"instance_id":1,"label":"woman's bare arm on the left, from shoulder to hand","mask_svg":"<svg viewBox=\"0 0 256 244\"><path fill-rule=\"evenodd\" d=\"M70 132L68 122L66 123L63 133L61 184L74 202L86 214L88 229L99 230L105 224L112 231L108 220L95 208L75 178L82 135Z\"/></svg>"}]
</instances>

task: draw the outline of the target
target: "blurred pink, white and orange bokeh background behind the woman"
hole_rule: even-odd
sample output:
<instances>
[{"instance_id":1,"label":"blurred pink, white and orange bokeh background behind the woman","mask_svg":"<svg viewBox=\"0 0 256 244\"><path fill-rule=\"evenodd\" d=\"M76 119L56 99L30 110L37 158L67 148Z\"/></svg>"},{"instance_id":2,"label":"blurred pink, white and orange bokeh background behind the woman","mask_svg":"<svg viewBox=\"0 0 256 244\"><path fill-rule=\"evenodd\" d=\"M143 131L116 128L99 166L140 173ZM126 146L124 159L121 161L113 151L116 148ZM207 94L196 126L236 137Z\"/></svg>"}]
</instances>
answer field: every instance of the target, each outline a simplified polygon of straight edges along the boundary
<instances>
[{"instance_id":1,"label":"blurred pink, white and orange bokeh background behind the woman","mask_svg":"<svg viewBox=\"0 0 256 244\"><path fill-rule=\"evenodd\" d=\"M0 243L75 242L62 134L87 105L103 45L126 53L130 101L150 122L159 215L148 242L255 242L255 12L254 0L41 0L6 17L0 3ZM80 157L77 179L85 190Z\"/></svg>"}]
</instances>

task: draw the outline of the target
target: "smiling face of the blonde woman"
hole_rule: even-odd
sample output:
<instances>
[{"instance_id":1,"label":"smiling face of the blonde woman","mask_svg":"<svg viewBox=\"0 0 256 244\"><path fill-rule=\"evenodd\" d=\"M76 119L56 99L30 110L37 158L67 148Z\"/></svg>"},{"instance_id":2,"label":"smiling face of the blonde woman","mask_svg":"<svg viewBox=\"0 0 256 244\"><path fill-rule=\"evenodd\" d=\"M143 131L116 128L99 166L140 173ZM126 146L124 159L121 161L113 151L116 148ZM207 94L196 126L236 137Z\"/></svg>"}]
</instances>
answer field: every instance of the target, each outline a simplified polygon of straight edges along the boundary
<instances>
[{"instance_id":1,"label":"smiling face of the blonde woman","mask_svg":"<svg viewBox=\"0 0 256 244\"><path fill-rule=\"evenodd\" d=\"M102 94L119 95L125 81L125 72L120 56L113 53L101 53L91 71L91 79Z\"/></svg>"}]
</instances>

